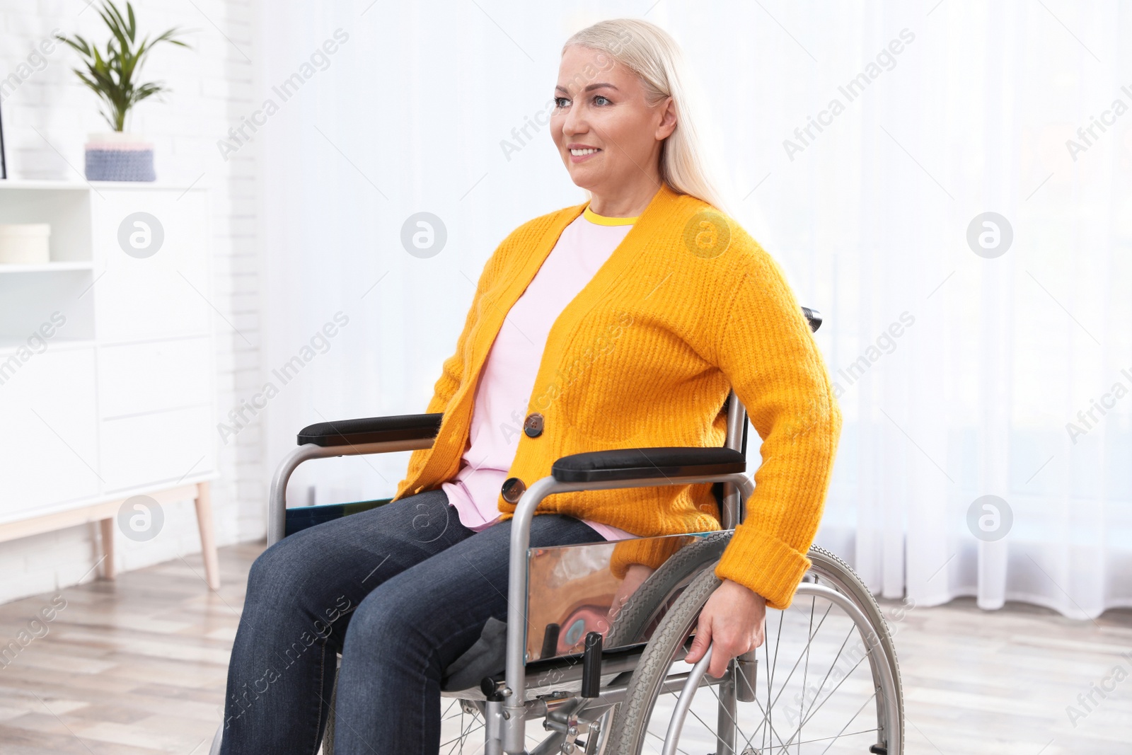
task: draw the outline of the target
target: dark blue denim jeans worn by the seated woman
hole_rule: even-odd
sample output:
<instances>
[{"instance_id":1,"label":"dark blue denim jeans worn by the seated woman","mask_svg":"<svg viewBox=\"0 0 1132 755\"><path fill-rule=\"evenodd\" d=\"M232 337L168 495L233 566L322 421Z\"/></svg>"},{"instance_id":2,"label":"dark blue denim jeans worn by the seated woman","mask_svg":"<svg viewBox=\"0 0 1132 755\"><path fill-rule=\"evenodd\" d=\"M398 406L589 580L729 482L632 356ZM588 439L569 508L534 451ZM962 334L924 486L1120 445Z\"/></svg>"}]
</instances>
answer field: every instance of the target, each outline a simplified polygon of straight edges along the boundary
<instances>
[{"instance_id":1,"label":"dark blue denim jeans worn by the seated woman","mask_svg":"<svg viewBox=\"0 0 1132 755\"><path fill-rule=\"evenodd\" d=\"M335 652L336 755L437 753L444 670L489 617L507 617L512 522L472 532L443 490L429 490L260 554L228 669L221 753L315 755ZM531 524L532 547L600 541L565 515Z\"/></svg>"}]
</instances>

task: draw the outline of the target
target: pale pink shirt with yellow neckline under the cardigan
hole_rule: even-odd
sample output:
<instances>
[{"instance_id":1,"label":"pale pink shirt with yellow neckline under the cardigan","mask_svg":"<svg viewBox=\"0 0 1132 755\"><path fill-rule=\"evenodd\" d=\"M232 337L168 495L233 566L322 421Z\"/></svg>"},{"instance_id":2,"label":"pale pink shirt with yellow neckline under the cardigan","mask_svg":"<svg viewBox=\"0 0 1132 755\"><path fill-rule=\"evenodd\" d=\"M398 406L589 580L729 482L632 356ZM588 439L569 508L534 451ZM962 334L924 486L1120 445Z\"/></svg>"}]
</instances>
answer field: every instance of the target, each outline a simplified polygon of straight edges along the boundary
<instances>
[{"instance_id":1,"label":"pale pink shirt with yellow neckline under the cardigan","mask_svg":"<svg viewBox=\"0 0 1132 755\"><path fill-rule=\"evenodd\" d=\"M508 477L523 435L550 326L609 258L634 221L603 217L588 206L566 226L526 291L507 312L475 386L470 445L461 469L440 486L448 503L456 507L461 524L473 532L499 521L499 488ZM606 540L636 537L608 524L583 521Z\"/></svg>"}]
</instances>

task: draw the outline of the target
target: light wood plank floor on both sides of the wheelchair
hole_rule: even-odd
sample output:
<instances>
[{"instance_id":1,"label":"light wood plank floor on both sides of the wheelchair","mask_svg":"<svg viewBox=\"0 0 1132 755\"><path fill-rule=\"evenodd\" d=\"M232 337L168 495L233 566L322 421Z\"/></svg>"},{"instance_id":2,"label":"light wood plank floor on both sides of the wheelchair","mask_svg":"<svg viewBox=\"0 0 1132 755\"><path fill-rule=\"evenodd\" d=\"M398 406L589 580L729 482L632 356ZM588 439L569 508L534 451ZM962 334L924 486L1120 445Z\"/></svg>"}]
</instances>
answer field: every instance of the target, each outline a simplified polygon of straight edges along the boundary
<instances>
[{"instance_id":1,"label":"light wood plank floor on both sides of the wheelchair","mask_svg":"<svg viewBox=\"0 0 1132 755\"><path fill-rule=\"evenodd\" d=\"M0 606L2 644L40 635L0 662L0 753L207 753L247 572L261 549L221 549L218 593L195 557ZM34 624L52 600L66 607ZM1132 612L1072 621L957 600L890 621L909 755L1132 753ZM1117 666L1123 674L1110 677ZM1094 692L1086 710L1078 695L1103 683L1115 689ZM1070 705L1084 717L1071 721Z\"/></svg>"}]
</instances>

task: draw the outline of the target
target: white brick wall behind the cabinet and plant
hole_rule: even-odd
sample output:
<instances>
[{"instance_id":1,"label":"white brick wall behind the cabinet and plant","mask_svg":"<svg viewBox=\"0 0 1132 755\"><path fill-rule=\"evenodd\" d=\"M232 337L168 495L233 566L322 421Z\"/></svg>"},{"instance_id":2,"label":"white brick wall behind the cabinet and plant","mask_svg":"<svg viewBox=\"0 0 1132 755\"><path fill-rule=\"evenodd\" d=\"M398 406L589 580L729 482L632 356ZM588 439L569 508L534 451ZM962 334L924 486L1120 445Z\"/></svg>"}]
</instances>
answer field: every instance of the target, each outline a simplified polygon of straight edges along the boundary
<instances>
[{"instance_id":1,"label":"white brick wall behind the cabinet and plant","mask_svg":"<svg viewBox=\"0 0 1132 755\"><path fill-rule=\"evenodd\" d=\"M125 0L120 6L125 9ZM164 102L139 104L127 128L154 141L160 181L187 186L199 180L197 186L211 190L213 304L255 344L249 346L216 318L217 400L226 411L260 384L256 149L241 149L225 162L216 148L229 127L261 100L254 3L136 0L134 7L143 32L170 26L191 31L185 37L191 50L154 50L143 77L163 80L171 92ZM3 85L0 104L9 177L75 180L74 169L83 170L86 135L109 130L95 95L70 71L78 61L74 51L55 43L49 45L54 48L50 54L36 57L36 46L57 28L100 44L109 34L86 0L0 0L0 80L18 79L18 85L11 79ZM220 544L263 537L263 463L258 428L221 446L220 480L213 483ZM192 505L165 507L164 527L154 540L118 538L117 544L122 570L199 552ZM0 543L0 601L96 578L91 569L97 559L95 524Z\"/></svg>"}]
</instances>

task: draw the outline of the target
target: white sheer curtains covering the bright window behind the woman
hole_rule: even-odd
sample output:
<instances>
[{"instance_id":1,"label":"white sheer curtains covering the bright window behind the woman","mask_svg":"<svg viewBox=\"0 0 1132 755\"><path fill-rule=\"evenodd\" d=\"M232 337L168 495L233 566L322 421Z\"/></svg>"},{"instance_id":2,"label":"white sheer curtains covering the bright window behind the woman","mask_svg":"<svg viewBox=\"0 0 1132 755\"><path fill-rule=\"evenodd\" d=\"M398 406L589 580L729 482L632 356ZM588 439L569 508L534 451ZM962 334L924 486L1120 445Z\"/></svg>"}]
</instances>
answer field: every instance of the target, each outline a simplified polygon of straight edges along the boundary
<instances>
[{"instance_id":1,"label":"white sheer curtains covering the bright window behind the woman","mask_svg":"<svg viewBox=\"0 0 1132 755\"><path fill-rule=\"evenodd\" d=\"M703 79L737 220L826 317L846 422L818 542L921 606L1132 604L1132 16L1115 1L263 2L265 97L350 35L257 136L265 379L350 318L258 418L266 466L305 423L423 409L495 246L582 200L533 126L563 41L642 15ZM417 212L445 224L435 257L401 244ZM292 491L388 495L404 464L321 462ZM995 508L969 515L984 496Z\"/></svg>"}]
</instances>

